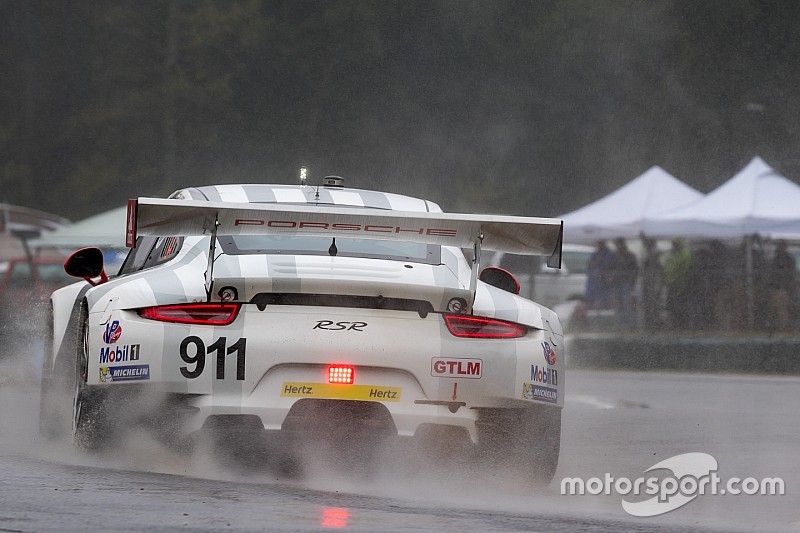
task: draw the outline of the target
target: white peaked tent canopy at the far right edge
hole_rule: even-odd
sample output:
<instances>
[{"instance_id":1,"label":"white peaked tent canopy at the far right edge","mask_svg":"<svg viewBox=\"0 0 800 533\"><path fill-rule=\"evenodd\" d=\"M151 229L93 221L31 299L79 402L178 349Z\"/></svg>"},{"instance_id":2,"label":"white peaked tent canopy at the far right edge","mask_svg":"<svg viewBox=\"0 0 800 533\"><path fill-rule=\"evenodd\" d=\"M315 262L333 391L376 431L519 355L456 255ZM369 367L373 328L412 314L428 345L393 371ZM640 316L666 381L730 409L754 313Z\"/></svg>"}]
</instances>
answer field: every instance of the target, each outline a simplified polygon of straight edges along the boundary
<instances>
[{"instance_id":1,"label":"white peaked tent canopy at the far right edge","mask_svg":"<svg viewBox=\"0 0 800 533\"><path fill-rule=\"evenodd\" d=\"M644 221L653 237L736 238L800 230L800 186L760 157L693 204Z\"/></svg>"}]
</instances>

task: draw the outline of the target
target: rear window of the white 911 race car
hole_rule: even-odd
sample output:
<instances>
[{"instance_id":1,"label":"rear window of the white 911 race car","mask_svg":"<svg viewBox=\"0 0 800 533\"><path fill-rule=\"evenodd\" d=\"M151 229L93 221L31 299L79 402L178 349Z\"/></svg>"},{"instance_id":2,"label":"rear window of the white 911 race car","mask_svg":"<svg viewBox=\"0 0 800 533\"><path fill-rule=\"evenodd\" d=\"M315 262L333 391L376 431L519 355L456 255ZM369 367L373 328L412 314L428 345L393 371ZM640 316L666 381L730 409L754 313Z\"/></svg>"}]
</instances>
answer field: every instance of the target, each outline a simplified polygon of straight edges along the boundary
<instances>
[{"instance_id":1,"label":"rear window of the white 911 race car","mask_svg":"<svg viewBox=\"0 0 800 533\"><path fill-rule=\"evenodd\" d=\"M236 235L218 238L229 255L332 255L334 239L297 235ZM438 265L441 248L432 244L376 239L335 240L335 255Z\"/></svg>"}]
</instances>

